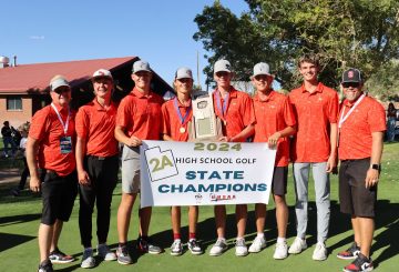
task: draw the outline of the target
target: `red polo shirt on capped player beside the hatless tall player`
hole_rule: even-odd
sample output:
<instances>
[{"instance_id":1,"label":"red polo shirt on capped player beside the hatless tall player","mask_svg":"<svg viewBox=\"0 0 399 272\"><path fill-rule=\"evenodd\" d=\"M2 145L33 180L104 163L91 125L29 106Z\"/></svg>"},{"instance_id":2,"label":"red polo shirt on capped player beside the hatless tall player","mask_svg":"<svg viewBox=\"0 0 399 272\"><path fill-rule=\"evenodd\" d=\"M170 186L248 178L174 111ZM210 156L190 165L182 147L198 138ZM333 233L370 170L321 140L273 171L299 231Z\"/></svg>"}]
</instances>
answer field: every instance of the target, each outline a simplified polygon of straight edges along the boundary
<instances>
[{"instance_id":1,"label":"red polo shirt on capped player beside the hatless tall player","mask_svg":"<svg viewBox=\"0 0 399 272\"><path fill-rule=\"evenodd\" d=\"M275 132L296 124L288 97L272 91L264 101L256 93L253 101L256 117L254 142L267 142ZM288 163L289 140L284 137L277 142L276 167L287 167Z\"/></svg>"}]
</instances>

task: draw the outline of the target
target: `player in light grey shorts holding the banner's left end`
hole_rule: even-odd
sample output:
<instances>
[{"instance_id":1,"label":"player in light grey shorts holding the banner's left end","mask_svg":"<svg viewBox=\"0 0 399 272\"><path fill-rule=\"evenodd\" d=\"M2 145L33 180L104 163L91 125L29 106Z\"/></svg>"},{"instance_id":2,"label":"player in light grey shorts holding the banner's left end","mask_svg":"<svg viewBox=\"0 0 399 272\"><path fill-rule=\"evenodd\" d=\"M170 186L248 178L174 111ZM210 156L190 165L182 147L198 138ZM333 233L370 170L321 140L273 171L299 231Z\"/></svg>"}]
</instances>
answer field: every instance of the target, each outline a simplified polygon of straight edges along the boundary
<instances>
[{"instance_id":1,"label":"player in light grey shorts holding the banner's left end","mask_svg":"<svg viewBox=\"0 0 399 272\"><path fill-rule=\"evenodd\" d=\"M122 200L117 210L119 248L117 262L131 264L127 251L127 232L134 201L140 191L140 149L142 140L160 140L162 134L163 99L151 87L152 71L146 61L133 63L132 79L134 89L117 109L115 138L123 143L122 153ZM158 254L162 249L149 239L152 208L140 209L139 250Z\"/></svg>"}]
</instances>

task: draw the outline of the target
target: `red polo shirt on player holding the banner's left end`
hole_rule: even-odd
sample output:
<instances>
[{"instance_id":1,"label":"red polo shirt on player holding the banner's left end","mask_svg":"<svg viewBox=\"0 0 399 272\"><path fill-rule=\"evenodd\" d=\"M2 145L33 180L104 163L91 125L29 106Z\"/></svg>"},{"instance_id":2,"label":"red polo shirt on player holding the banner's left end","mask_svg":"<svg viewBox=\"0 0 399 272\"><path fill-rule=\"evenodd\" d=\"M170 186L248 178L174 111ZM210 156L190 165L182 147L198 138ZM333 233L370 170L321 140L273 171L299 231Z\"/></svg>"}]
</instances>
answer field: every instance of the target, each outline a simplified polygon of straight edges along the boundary
<instances>
[{"instance_id":1,"label":"red polo shirt on player holding the banner's left end","mask_svg":"<svg viewBox=\"0 0 399 272\"><path fill-rule=\"evenodd\" d=\"M136 88L122 99L116 113L116 125L124 129L127 137L142 140L160 140L162 133L162 97L150 91L144 95Z\"/></svg>"}]
</instances>

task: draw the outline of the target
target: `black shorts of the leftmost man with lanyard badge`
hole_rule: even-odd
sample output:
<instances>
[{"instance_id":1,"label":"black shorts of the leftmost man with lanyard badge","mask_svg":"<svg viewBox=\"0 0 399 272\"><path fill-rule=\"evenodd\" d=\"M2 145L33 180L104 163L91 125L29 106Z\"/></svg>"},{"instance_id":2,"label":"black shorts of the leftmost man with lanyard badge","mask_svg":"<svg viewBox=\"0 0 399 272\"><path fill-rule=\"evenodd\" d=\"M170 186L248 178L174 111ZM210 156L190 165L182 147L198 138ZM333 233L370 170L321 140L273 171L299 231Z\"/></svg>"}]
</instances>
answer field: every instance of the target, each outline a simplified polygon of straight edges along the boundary
<instances>
[{"instance_id":1,"label":"black shorts of the leftmost man with lanyard badge","mask_svg":"<svg viewBox=\"0 0 399 272\"><path fill-rule=\"evenodd\" d=\"M78 193L76 172L60 177L54 171L41 170L41 182L43 200L41 222L47 225L54 224L57 219L66 222L71 216Z\"/></svg>"}]
</instances>

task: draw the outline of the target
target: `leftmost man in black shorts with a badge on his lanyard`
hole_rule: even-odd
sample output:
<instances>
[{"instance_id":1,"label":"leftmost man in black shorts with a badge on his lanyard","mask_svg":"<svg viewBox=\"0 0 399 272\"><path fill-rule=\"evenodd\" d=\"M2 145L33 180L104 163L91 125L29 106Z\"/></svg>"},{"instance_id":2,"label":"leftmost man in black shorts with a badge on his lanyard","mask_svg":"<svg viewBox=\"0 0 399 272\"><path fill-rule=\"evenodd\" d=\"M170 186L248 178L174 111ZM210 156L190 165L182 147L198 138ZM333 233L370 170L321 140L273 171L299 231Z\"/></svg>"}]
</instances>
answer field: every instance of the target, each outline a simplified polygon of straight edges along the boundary
<instances>
[{"instance_id":1,"label":"leftmost man in black shorts with a badge on his lanyard","mask_svg":"<svg viewBox=\"0 0 399 272\"><path fill-rule=\"evenodd\" d=\"M72 256L58 249L58 241L63 222L71 215L78 192L75 114L69 108L71 88L63 77L51 79L50 95L51 104L32 118L27 143L30 189L41 191L43 199L39 226L39 271L42 272L53 271L51 263L73 261Z\"/></svg>"}]
</instances>

